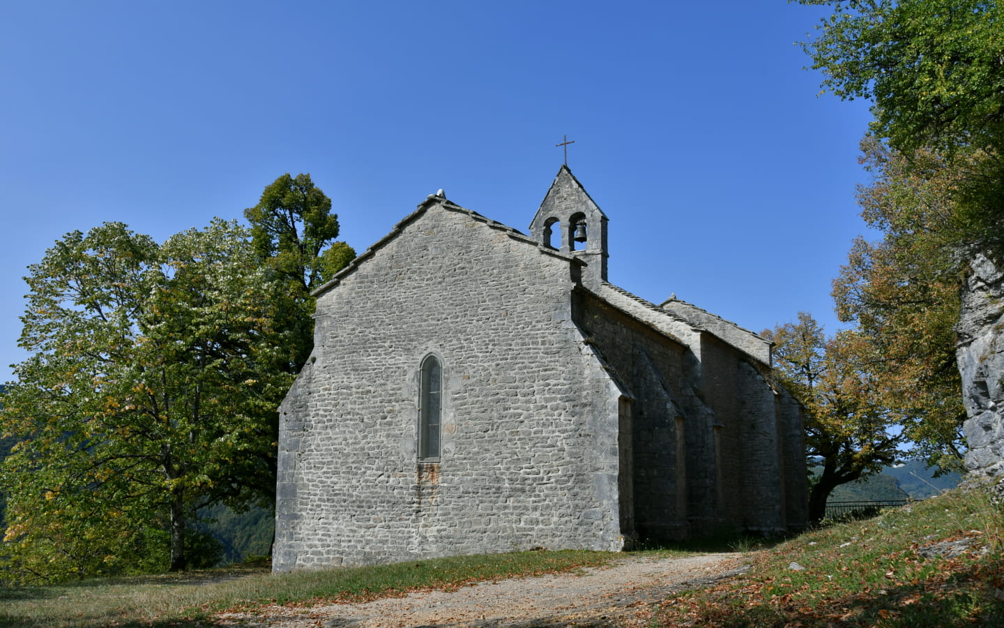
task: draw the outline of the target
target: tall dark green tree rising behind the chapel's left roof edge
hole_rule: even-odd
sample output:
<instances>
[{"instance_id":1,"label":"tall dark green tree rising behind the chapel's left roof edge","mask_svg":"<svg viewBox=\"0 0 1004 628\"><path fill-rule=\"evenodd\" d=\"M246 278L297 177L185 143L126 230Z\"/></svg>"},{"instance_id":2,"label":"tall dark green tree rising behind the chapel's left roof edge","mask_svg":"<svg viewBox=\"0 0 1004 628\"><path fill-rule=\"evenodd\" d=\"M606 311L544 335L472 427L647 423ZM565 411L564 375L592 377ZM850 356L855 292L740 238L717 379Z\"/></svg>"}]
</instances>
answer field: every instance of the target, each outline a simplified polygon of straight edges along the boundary
<instances>
[{"instance_id":1,"label":"tall dark green tree rising behind the chapel's left roof edge","mask_svg":"<svg viewBox=\"0 0 1004 628\"><path fill-rule=\"evenodd\" d=\"M313 348L310 293L347 265L355 251L334 241L338 216L309 174L282 175L265 188L257 205L244 210L244 217L259 259L288 285L282 324L292 332L287 370L296 373Z\"/></svg>"}]
</instances>

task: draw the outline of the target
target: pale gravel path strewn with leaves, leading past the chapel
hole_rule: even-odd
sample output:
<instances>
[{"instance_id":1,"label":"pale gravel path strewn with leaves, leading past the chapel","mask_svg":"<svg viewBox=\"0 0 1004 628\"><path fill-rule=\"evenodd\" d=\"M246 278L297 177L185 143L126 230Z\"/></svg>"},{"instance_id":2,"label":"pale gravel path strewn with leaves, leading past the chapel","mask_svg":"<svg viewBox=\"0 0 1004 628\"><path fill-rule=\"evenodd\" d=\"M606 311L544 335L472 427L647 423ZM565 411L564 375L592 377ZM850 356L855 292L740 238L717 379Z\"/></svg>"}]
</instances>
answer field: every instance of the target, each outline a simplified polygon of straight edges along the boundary
<instances>
[{"instance_id":1,"label":"pale gravel path strewn with leaves, leading past the chapel","mask_svg":"<svg viewBox=\"0 0 1004 628\"><path fill-rule=\"evenodd\" d=\"M610 567L486 582L449 593L413 593L364 604L264 607L254 615L225 614L216 619L222 626L261 628L610 626L632 607L707 586L745 569L745 558L739 554L632 558Z\"/></svg>"}]
</instances>

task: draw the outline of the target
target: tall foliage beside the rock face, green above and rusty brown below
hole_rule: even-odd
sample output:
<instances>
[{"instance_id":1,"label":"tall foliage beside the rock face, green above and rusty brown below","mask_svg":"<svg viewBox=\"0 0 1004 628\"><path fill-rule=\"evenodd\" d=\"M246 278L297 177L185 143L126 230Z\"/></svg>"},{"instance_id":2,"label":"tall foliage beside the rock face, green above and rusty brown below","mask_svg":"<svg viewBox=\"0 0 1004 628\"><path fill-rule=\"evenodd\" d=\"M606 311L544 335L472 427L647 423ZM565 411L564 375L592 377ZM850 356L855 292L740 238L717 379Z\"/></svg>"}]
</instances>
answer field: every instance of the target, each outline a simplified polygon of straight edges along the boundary
<instances>
[{"instance_id":1,"label":"tall foliage beside the rock face, green above and rusty brown below","mask_svg":"<svg viewBox=\"0 0 1004 628\"><path fill-rule=\"evenodd\" d=\"M832 7L804 44L823 88L872 101L838 316L883 356L883 403L929 462L958 460L953 327L967 258L1004 259L1004 13L996 0L799 0Z\"/></svg>"}]
</instances>

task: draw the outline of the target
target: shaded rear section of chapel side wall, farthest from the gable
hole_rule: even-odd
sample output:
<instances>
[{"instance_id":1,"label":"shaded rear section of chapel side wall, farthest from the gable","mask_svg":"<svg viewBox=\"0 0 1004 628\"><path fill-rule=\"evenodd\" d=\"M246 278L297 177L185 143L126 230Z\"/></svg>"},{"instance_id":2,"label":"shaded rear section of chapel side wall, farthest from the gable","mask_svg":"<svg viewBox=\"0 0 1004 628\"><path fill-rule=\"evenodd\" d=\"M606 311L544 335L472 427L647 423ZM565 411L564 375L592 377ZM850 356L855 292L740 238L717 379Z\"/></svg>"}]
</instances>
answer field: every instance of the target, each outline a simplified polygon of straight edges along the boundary
<instances>
[{"instance_id":1,"label":"shaded rear section of chapel side wall, farthest from the gable","mask_svg":"<svg viewBox=\"0 0 1004 628\"><path fill-rule=\"evenodd\" d=\"M711 335L701 339L701 368L704 396L720 430L720 514L749 531L785 530L774 391L740 352Z\"/></svg>"}]
</instances>

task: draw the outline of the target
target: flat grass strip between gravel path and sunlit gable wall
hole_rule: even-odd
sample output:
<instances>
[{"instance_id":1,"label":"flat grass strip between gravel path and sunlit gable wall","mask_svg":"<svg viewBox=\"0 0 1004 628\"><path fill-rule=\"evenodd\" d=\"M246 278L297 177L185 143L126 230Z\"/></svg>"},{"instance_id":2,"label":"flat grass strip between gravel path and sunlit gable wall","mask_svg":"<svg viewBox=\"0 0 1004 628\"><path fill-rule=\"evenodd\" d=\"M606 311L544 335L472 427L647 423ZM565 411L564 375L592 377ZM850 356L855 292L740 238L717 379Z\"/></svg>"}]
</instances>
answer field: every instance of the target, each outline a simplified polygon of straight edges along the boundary
<instances>
[{"instance_id":1,"label":"flat grass strip between gravel path and sunlit gable wall","mask_svg":"<svg viewBox=\"0 0 1004 628\"><path fill-rule=\"evenodd\" d=\"M210 626L228 608L364 600L423 588L574 571L609 563L603 552L518 552L273 576L264 567L0 589L0 626Z\"/></svg>"}]
</instances>

